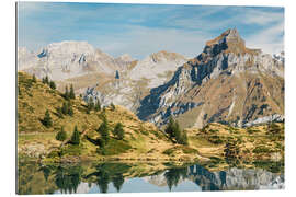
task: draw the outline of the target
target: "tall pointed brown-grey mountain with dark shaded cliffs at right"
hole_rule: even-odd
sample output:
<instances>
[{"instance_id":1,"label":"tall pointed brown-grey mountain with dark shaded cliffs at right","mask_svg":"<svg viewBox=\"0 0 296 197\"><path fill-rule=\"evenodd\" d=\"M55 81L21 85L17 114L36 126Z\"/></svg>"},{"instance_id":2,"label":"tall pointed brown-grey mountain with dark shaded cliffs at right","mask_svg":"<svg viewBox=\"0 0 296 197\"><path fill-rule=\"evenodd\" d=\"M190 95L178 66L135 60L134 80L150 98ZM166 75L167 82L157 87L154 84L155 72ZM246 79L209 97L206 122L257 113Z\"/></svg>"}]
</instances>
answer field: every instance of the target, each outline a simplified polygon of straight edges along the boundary
<instances>
[{"instance_id":1,"label":"tall pointed brown-grey mountain with dark shaded cliffs at right","mask_svg":"<svg viewBox=\"0 0 296 197\"><path fill-rule=\"evenodd\" d=\"M183 127L226 121L242 126L284 114L284 60L249 49L237 30L206 43L167 83L151 89L138 117L159 126L170 116Z\"/></svg>"}]
</instances>

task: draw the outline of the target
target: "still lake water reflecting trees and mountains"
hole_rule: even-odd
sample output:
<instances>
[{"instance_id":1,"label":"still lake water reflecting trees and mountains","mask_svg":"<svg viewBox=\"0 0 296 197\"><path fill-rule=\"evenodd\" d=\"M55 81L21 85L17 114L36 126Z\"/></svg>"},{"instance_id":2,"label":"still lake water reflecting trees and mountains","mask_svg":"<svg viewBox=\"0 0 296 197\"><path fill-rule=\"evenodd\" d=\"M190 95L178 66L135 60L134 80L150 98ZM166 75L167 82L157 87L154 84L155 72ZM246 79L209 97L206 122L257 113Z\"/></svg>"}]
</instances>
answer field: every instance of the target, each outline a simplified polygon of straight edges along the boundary
<instances>
[{"instance_id":1,"label":"still lake water reflecting trees and mountains","mask_svg":"<svg viewBox=\"0 0 296 197\"><path fill-rule=\"evenodd\" d=\"M164 169L163 169L164 166ZM277 165L275 165L277 166ZM282 189L284 173L276 167L210 172L200 164L79 163L43 165L19 163L19 194L95 194Z\"/></svg>"}]
</instances>

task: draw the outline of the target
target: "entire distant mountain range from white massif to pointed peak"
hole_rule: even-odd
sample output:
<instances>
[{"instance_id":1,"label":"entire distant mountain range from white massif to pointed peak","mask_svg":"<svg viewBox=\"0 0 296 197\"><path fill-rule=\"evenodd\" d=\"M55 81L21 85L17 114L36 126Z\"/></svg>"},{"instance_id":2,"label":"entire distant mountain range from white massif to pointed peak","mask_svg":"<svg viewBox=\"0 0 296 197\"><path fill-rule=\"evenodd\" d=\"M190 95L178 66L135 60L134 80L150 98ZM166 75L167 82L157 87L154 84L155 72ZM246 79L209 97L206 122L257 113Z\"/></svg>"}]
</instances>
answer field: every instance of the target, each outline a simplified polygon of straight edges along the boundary
<instances>
[{"instance_id":1,"label":"entire distant mountain range from white massif to pointed peak","mask_svg":"<svg viewBox=\"0 0 296 197\"><path fill-rule=\"evenodd\" d=\"M247 48L235 28L206 42L192 59L163 50L143 60L114 58L86 42L54 43L39 53L18 49L19 70L48 76L60 90L72 83L86 101L123 105L160 127L170 116L197 128L283 120L284 62L284 54Z\"/></svg>"}]
</instances>

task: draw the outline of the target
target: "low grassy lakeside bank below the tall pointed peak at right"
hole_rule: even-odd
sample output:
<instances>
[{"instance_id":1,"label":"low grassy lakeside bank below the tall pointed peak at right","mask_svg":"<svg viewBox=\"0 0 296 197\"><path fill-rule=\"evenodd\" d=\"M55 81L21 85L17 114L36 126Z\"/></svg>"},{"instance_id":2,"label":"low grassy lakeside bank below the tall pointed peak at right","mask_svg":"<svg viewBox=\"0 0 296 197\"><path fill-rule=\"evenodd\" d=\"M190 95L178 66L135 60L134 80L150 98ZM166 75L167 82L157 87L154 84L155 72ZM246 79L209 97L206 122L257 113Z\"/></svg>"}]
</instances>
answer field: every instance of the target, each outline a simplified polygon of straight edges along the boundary
<instances>
[{"instance_id":1,"label":"low grassy lakeside bank below the tall pointed peak at right","mask_svg":"<svg viewBox=\"0 0 296 197\"><path fill-rule=\"evenodd\" d=\"M186 130L192 148L197 149L202 157L221 161L225 157L224 150L226 144L230 142L238 148L240 162L283 161L284 159L283 123L248 128L235 128L213 123L203 129ZM272 132L272 130L276 131ZM220 163L218 166L221 167L224 165L227 165L227 163Z\"/></svg>"}]
</instances>

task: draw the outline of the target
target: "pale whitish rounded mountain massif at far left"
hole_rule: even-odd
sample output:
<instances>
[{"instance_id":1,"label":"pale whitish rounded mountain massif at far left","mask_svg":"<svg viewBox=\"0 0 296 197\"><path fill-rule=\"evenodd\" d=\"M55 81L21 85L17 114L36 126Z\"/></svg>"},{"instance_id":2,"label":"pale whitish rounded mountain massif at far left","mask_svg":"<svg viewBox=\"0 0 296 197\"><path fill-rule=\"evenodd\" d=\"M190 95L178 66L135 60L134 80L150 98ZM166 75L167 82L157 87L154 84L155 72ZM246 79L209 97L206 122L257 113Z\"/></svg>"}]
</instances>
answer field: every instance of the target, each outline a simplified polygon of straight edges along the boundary
<instances>
[{"instance_id":1,"label":"pale whitish rounded mountain massif at far left","mask_svg":"<svg viewBox=\"0 0 296 197\"><path fill-rule=\"evenodd\" d=\"M113 74L115 70L124 70L130 61L127 55L114 59L87 42L53 43L36 55L20 48L18 55L19 70L38 78L47 74L57 81L93 72Z\"/></svg>"}]
</instances>

